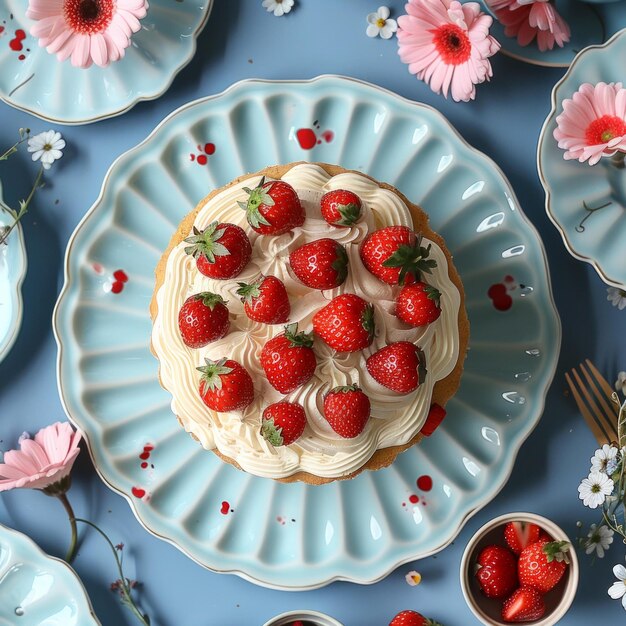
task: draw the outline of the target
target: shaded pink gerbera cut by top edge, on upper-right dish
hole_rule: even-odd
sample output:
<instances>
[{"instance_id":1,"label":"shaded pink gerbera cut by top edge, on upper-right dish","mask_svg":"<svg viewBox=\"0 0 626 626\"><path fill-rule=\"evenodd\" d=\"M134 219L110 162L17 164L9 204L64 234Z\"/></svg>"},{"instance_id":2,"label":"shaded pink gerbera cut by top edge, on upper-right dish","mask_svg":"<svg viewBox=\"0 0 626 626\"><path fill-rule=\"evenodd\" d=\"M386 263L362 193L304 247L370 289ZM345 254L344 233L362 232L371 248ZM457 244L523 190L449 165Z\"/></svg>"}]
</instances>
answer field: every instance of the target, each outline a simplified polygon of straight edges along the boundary
<instances>
[{"instance_id":1,"label":"shaded pink gerbera cut by top edge, on upper-right dish","mask_svg":"<svg viewBox=\"0 0 626 626\"><path fill-rule=\"evenodd\" d=\"M504 34L517 37L520 46L527 46L536 39L539 50L545 52L552 50L555 44L562 48L570 40L567 22L550 2L493 0L489 5L504 26Z\"/></svg>"}]
</instances>

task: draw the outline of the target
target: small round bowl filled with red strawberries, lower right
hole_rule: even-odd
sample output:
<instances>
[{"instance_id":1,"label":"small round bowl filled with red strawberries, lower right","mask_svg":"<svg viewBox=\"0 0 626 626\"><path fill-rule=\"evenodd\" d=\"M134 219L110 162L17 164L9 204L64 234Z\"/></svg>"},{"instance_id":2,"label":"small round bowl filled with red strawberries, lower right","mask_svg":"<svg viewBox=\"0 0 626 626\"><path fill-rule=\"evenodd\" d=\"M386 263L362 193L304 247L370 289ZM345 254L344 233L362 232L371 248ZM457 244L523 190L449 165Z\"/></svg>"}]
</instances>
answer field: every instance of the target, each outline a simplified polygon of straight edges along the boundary
<instances>
[{"instance_id":1,"label":"small round bowl filled with red strawberries, lower right","mask_svg":"<svg viewBox=\"0 0 626 626\"><path fill-rule=\"evenodd\" d=\"M551 626L565 615L578 587L578 559L567 535L534 513L497 517L469 541L461 588L487 626Z\"/></svg>"}]
</instances>

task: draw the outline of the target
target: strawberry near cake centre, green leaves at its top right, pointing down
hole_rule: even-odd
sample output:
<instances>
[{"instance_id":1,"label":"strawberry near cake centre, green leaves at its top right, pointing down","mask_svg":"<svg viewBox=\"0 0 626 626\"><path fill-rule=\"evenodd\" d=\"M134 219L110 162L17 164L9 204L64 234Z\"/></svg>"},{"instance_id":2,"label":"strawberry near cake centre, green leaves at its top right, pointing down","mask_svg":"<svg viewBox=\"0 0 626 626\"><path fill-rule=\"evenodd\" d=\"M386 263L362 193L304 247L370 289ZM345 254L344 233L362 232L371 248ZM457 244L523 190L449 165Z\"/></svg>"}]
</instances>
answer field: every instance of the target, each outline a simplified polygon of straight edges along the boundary
<instances>
[{"instance_id":1,"label":"strawberry near cake centre, green leaves at its top right, pointing down","mask_svg":"<svg viewBox=\"0 0 626 626\"><path fill-rule=\"evenodd\" d=\"M284 333L263 346L261 366L270 385L280 393L304 385L317 367L311 333L299 333L297 324L288 324Z\"/></svg>"}]
</instances>

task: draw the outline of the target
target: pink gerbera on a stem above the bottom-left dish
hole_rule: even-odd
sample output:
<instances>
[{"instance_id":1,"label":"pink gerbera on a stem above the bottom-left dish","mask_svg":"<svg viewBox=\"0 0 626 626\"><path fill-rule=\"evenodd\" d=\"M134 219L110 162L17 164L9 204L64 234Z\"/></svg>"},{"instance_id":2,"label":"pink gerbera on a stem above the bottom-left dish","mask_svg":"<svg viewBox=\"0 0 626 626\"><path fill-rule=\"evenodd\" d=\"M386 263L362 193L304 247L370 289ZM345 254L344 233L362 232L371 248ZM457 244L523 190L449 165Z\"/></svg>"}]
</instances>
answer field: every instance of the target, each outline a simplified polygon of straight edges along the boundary
<instances>
[{"instance_id":1,"label":"pink gerbera on a stem above the bottom-left dish","mask_svg":"<svg viewBox=\"0 0 626 626\"><path fill-rule=\"evenodd\" d=\"M21 439L20 450L9 450L4 454L4 463L0 463L0 491L67 490L67 485L59 483L69 476L80 452L79 442L80 433L67 422L42 428L34 439Z\"/></svg>"}]
</instances>

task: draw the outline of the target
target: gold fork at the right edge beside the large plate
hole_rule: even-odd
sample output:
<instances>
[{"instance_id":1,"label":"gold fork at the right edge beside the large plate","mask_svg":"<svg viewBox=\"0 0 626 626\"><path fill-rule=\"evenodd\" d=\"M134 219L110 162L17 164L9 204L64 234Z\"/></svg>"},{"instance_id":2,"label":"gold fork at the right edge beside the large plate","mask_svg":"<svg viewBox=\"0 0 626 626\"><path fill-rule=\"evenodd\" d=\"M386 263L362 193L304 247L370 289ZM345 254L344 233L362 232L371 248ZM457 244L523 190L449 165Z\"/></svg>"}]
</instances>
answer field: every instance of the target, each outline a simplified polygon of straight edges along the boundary
<instances>
[{"instance_id":1,"label":"gold fork at the right edge beside the large plate","mask_svg":"<svg viewBox=\"0 0 626 626\"><path fill-rule=\"evenodd\" d=\"M613 401L611 385L589 359L578 367L582 377L574 368L565 379L580 412L600 445L617 442L619 407Z\"/></svg>"}]
</instances>

